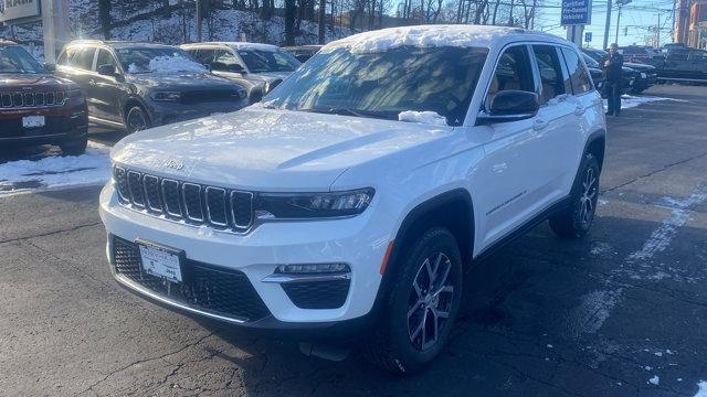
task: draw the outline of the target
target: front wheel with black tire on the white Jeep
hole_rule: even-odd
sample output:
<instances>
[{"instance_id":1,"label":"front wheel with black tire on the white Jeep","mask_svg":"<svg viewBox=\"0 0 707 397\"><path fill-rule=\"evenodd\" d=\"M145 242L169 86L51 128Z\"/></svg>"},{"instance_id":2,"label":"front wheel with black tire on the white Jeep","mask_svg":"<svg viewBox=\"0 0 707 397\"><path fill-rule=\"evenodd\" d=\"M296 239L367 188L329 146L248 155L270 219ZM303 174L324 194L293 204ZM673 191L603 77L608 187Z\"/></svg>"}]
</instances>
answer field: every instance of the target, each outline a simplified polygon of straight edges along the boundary
<instances>
[{"instance_id":1,"label":"front wheel with black tire on the white Jeep","mask_svg":"<svg viewBox=\"0 0 707 397\"><path fill-rule=\"evenodd\" d=\"M416 373L440 354L462 298L462 256L447 229L431 228L408 248L393 267L379 324L362 346L370 362L395 374Z\"/></svg>"}]
</instances>

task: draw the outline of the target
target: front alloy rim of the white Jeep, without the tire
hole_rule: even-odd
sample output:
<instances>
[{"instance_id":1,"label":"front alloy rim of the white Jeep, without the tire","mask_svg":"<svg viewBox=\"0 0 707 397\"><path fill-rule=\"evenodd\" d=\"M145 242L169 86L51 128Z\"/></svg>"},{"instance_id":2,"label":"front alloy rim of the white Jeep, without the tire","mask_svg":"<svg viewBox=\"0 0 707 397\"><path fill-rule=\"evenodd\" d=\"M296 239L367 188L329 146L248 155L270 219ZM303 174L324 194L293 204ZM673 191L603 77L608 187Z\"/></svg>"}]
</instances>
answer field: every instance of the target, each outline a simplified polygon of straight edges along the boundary
<instances>
[{"instance_id":1,"label":"front alloy rim of the white Jeep, without the tire","mask_svg":"<svg viewBox=\"0 0 707 397\"><path fill-rule=\"evenodd\" d=\"M408 299L408 336L418 351L426 351L440 339L454 298L452 261L435 253L420 266Z\"/></svg>"}]
</instances>

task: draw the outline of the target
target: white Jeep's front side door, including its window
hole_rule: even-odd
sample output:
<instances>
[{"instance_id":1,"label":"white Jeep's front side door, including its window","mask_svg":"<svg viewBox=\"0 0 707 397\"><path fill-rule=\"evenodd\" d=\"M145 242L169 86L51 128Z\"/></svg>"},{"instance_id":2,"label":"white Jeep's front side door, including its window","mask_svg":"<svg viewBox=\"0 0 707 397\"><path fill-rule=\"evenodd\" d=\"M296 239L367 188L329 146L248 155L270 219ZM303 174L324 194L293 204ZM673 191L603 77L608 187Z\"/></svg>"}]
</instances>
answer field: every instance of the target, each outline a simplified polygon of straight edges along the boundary
<instances>
[{"instance_id":1,"label":"white Jeep's front side door, including its window","mask_svg":"<svg viewBox=\"0 0 707 397\"><path fill-rule=\"evenodd\" d=\"M531 60L526 44L504 49L495 61L482 112L487 111L499 92L539 92ZM547 122L539 124L536 118L476 127L478 136L488 137L471 186L479 214L481 234L476 237L479 247L510 233L548 202L542 197L547 176L540 174L551 155L546 148L547 127Z\"/></svg>"}]
</instances>

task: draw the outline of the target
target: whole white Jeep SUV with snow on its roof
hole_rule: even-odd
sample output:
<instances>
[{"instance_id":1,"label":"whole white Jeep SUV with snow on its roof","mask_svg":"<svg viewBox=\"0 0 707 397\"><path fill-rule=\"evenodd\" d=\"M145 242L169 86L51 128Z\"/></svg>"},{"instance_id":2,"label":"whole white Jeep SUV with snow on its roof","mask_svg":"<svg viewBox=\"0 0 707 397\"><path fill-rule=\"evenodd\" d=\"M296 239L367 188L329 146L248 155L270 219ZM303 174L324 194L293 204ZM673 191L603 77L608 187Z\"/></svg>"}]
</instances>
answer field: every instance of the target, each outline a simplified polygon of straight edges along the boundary
<instances>
[{"instance_id":1,"label":"whole white Jeep SUV with snow on its roof","mask_svg":"<svg viewBox=\"0 0 707 397\"><path fill-rule=\"evenodd\" d=\"M107 254L122 285L163 305L349 331L378 365L414 372L447 340L463 267L546 218L562 237L588 232L604 142L601 98L564 40L361 33L263 104L116 144Z\"/></svg>"}]
</instances>

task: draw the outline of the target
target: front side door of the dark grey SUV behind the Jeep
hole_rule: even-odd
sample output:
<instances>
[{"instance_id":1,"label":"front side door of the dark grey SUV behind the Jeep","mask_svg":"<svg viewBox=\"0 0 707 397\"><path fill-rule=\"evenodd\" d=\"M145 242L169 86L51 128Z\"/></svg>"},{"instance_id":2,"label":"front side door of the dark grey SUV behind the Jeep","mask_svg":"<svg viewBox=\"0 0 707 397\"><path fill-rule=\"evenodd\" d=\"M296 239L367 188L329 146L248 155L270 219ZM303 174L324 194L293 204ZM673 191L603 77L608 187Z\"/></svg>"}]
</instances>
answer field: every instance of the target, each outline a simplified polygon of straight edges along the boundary
<instances>
[{"instance_id":1,"label":"front side door of the dark grey SUV behind the Jeep","mask_svg":"<svg viewBox=\"0 0 707 397\"><path fill-rule=\"evenodd\" d=\"M116 74L113 76L98 73L99 66L110 65ZM123 109L120 98L123 94L122 71L113 53L106 49L98 49L93 75L88 81L89 99L88 111L91 116L113 122L123 122Z\"/></svg>"}]
</instances>

